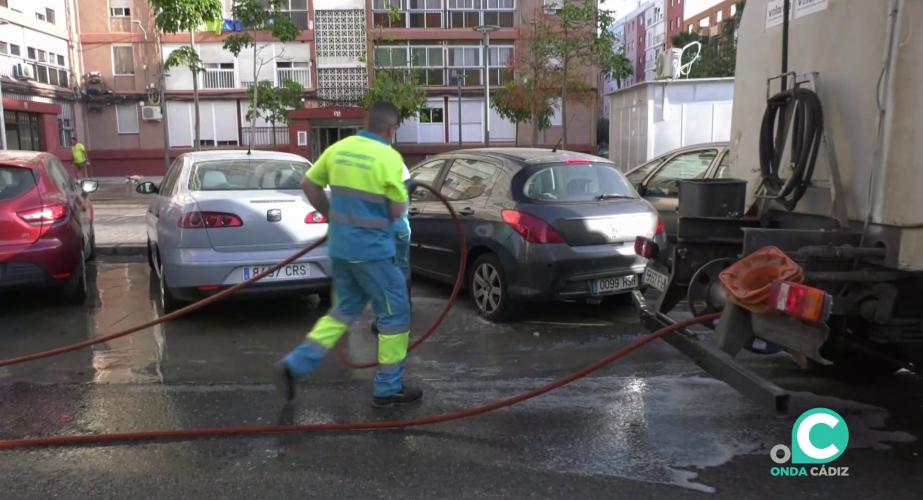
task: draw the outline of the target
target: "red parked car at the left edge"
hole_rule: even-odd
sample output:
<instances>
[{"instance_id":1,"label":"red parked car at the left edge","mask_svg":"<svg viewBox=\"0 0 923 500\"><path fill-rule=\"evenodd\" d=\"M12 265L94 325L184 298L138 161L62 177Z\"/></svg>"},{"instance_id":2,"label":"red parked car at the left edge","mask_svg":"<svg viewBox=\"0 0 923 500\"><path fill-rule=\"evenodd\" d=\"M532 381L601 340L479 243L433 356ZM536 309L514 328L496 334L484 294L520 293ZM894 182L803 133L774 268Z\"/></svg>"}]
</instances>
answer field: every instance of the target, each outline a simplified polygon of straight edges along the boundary
<instances>
[{"instance_id":1,"label":"red parked car at the left edge","mask_svg":"<svg viewBox=\"0 0 923 500\"><path fill-rule=\"evenodd\" d=\"M0 152L0 290L57 287L86 300L94 253L96 181L77 179L54 155Z\"/></svg>"}]
</instances>

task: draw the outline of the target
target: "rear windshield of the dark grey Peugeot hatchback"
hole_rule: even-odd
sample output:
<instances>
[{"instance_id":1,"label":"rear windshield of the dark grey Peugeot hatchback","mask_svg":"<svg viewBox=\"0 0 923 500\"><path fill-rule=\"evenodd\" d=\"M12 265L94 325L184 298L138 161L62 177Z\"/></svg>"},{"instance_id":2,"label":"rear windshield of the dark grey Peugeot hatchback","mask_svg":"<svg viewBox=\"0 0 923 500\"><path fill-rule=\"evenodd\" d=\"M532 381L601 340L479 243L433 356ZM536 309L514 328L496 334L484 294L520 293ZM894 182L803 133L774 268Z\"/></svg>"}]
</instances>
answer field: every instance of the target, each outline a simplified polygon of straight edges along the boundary
<instances>
[{"instance_id":1,"label":"rear windshield of the dark grey Peugeot hatchback","mask_svg":"<svg viewBox=\"0 0 923 500\"><path fill-rule=\"evenodd\" d=\"M525 194L536 201L551 202L637 197L615 166L605 163L549 165L526 180Z\"/></svg>"}]
</instances>

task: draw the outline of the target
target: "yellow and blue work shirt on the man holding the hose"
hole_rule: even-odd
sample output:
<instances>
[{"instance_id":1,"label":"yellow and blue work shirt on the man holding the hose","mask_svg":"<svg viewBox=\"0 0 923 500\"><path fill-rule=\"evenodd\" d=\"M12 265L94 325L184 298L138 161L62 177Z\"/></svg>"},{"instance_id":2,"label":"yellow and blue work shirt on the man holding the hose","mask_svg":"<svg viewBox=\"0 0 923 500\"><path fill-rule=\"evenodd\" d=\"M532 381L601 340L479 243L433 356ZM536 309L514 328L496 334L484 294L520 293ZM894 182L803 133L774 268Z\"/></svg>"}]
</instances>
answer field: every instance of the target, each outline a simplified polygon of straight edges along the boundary
<instances>
[{"instance_id":1,"label":"yellow and blue work shirt on the man holding the hose","mask_svg":"<svg viewBox=\"0 0 923 500\"><path fill-rule=\"evenodd\" d=\"M307 178L330 186L330 256L350 261L395 255L391 204L407 203L401 154L368 131L328 147Z\"/></svg>"}]
</instances>

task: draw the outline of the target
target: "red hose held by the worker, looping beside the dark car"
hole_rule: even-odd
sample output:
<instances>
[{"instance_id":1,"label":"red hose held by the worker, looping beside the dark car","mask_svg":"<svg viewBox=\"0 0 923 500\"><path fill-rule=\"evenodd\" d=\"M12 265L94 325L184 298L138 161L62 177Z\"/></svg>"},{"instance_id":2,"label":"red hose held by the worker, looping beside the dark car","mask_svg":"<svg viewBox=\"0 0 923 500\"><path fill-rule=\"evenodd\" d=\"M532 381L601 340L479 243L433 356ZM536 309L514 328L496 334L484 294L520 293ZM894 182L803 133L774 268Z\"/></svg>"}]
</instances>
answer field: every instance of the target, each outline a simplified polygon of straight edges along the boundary
<instances>
[{"instance_id":1,"label":"red hose held by the worker, looping beside the dark car","mask_svg":"<svg viewBox=\"0 0 923 500\"><path fill-rule=\"evenodd\" d=\"M442 323L442 320L445 319L446 315L448 315L449 310L452 309L452 306L453 306L454 303L455 303L455 299L458 297L458 293L461 291L461 287L462 287L462 285L464 284L465 261L466 261L467 258L468 258L468 257L467 257L467 255L468 255L468 254L467 254L467 244L465 243L465 234L464 234L464 232L462 231L461 222L459 222L459 220L458 220L458 215L455 213L455 210L452 208L452 205L449 203L449 200L446 199L446 198L442 195L442 193L440 193L440 192L436 191L435 189L433 189L432 186L429 186L429 185L426 185L426 184L422 184L422 183L417 184L417 186L419 186L419 187L421 187L421 188L423 188L423 189L426 189L426 190L428 190L429 192L433 193L433 195L435 195L436 198L438 198L440 201L442 201L442 203L449 209L449 215L451 215L451 217L452 217L452 223L455 225L456 231L458 231L459 242L460 242L460 246L461 246L461 247L460 247L460 251L459 251L459 272L458 272L458 278L455 280L455 288L452 289L452 294L449 295L449 298L448 298L448 300L446 301L446 305L445 305L445 307L443 307L442 311L439 313L439 316L436 318L436 321L434 321L433 324L430 325L429 329L427 329L426 332L425 332L423 335L421 335L419 339L417 339L416 341L414 341L414 342L410 345L410 347L409 347L408 350L413 350L413 349L415 349L415 348L416 348L417 346L419 346L423 341L425 341L427 338L429 338L430 335L432 335L433 332L435 332L436 329L439 328L439 325ZM259 280L265 278L266 276L269 276L270 274L276 272L277 270L279 270L279 269L282 268L283 266L288 265L288 264L291 264L291 263L294 262L295 260L301 258L302 256L306 255L307 253L309 253L309 252L311 252L312 250L316 249L317 247L321 246L321 245L324 244L324 242L326 242L326 241L327 241L327 237L325 236L325 237L321 238L320 240L317 240L317 241L315 241L314 243L308 245L308 246L307 246L306 248L304 248L303 250L299 250L298 252L296 252L296 253L295 253L294 255L292 255L291 257L289 257L289 258L283 260L282 262L276 264L275 266L271 267L270 269L267 269L266 271L263 271L262 273L260 273L260 274L258 274L258 275L256 275L256 276L254 276L253 278L250 278L250 279L247 280L247 281L238 283L238 284L236 284L236 285L234 285L234 286L232 286L232 287L230 287L230 288L227 288L227 289L225 289L225 290L222 290L222 291L216 293L215 295L212 295L212 296L210 296L210 297L204 298L204 299L202 299L202 300L200 300L200 301L198 301L198 302L194 302L194 303L192 303L192 304L189 304L188 306L183 307L182 309L177 309L176 311L173 311L173 312L170 313L170 314L165 314L165 315L163 315L163 316L160 316L160 317L158 317L158 318L156 318L156 319L153 319L153 320L151 320L151 321L148 321L148 322L146 322L146 323L142 323L142 324L140 324L140 325L136 325L136 326L133 326L133 327L131 327L131 328L127 328L127 329L125 329L125 330L121 330L121 331L118 331L118 332L115 332L115 333L112 333L112 334L109 334L109 335L106 335L106 336L103 336L103 337L99 337L99 338L95 338L95 339L89 339L89 340L84 340L83 342L78 342L78 343L76 343L76 344L66 345L66 346L63 346L63 347L58 347L58 348L56 348L56 349L51 349L51 350L48 350L48 351L37 352L37 353L33 353L33 354L26 354L26 355L24 355L24 356L19 356L19 357L10 358L10 359L4 359L4 360L0 361L0 368L2 368L2 367L4 367L4 366L12 366L12 365L18 365L18 364L22 364L22 363L28 363L29 361L36 361L36 360L39 360L39 359L50 358L50 357L53 357L53 356L57 356L57 355L59 355L59 354L64 354L64 353L67 353L67 352L76 351L76 350L79 350L79 349L83 349L84 347L90 347L90 346L92 346L92 345L101 344L101 343L103 343L103 342L108 342L108 341L110 341L110 340L114 340L114 339L117 339L117 338L119 338L119 337L124 337L124 336L126 336L126 335L131 335L132 333L137 333L137 332L139 332L139 331L141 331L141 330L145 330L145 329L151 328L152 326L159 325L159 324L161 324L161 323L166 323L167 321L171 321L171 320L174 320L174 319L183 317L183 316L185 316L185 315L187 315L187 314L189 314L189 313L191 313L191 312L194 312L194 311L196 311L196 310L198 310L198 309L201 309L201 308L203 308L203 307L205 307L205 306L207 306L207 305L209 305L209 304L214 304L215 302L218 302L219 300L224 299L224 298L226 298L227 296L234 294L235 292L241 290L242 288L248 287L248 286L252 285L253 283L255 283L255 282L257 282L257 281L259 281ZM377 365L377 363L361 363L361 364L360 364L360 363L353 363L352 361L350 361L350 360L345 356L344 353L341 353L340 359L341 359L341 361L343 361L344 364L346 364L347 366L349 366L349 367L351 367L351 368L370 368L370 367L373 367L373 366L376 366L376 365Z\"/></svg>"}]
</instances>

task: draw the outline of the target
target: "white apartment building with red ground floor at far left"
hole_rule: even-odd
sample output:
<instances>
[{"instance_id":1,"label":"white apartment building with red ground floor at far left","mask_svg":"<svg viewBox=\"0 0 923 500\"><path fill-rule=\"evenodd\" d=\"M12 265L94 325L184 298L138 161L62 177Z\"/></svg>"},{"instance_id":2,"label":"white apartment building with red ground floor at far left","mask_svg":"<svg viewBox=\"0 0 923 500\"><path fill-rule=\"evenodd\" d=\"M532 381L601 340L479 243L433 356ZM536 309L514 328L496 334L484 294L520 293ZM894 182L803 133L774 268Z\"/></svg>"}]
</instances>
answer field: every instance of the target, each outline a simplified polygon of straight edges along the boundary
<instances>
[{"instance_id":1,"label":"white apartment building with red ground floor at far left","mask_svg":"<svg viewBox=\"0 0 923 500\"><path fill-rule=\"evenodd\" d=\"M66 157L77 121L71 0L0 0L7 147Z\"/></svg>"}]
</instances>

